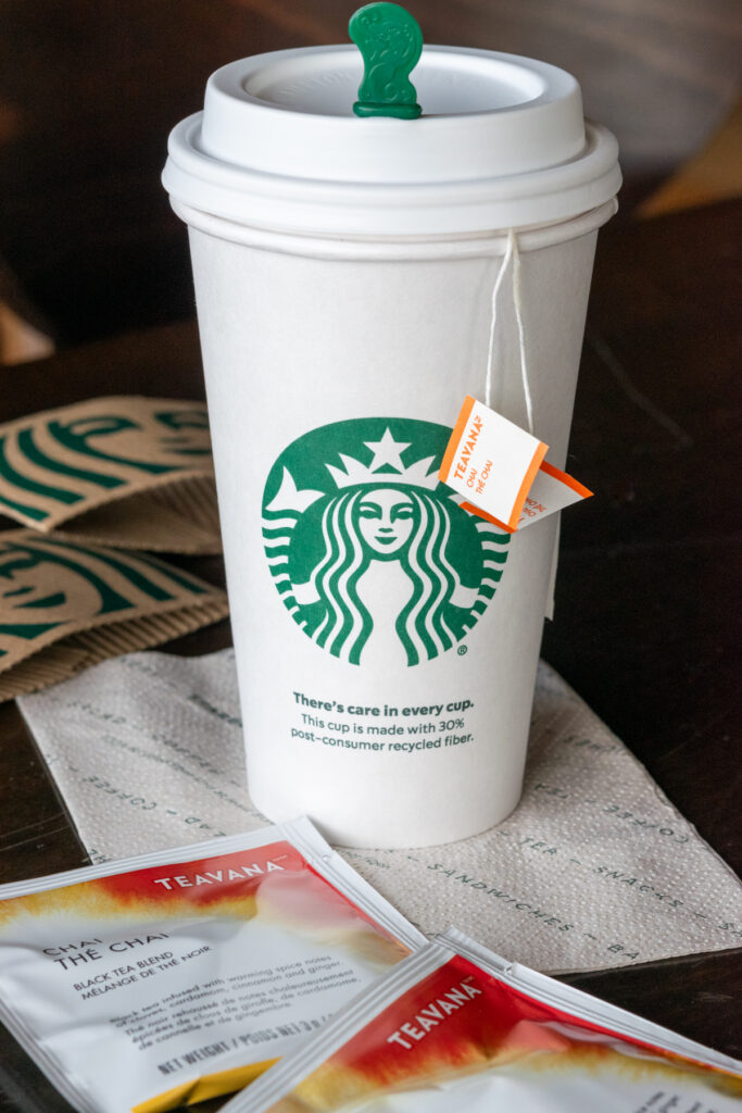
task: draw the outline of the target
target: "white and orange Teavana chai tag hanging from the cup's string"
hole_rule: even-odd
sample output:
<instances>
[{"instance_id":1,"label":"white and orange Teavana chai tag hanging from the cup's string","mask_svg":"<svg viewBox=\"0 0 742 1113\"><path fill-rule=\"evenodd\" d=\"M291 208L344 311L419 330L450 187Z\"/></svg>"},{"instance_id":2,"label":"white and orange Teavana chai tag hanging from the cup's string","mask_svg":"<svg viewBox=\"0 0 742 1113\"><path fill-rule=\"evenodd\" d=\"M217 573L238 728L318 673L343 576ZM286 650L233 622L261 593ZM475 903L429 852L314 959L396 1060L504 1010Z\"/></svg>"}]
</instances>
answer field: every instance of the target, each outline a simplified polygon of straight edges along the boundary
<instances>
[{"instance_id":1,"label":"white and orange Teavana chai tag hanging from the cup's string","mask_svg":"<svg viewBox=\"0 0 742 1113\"><path fill-rule=\"evenodd\" d=\"M465 496L463 510L515 533L592 494L545 463L547 450L543 441L467 395L438 477Z\"/></svg>"}]
</instances>

